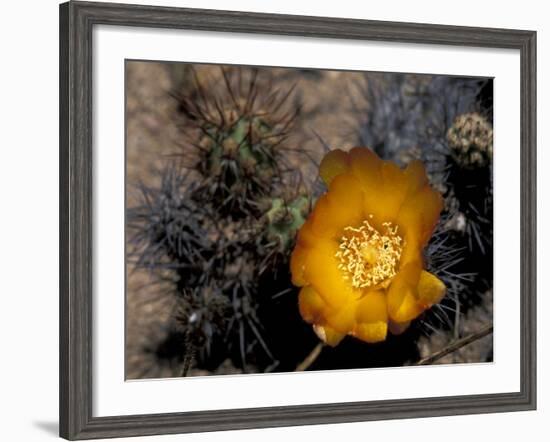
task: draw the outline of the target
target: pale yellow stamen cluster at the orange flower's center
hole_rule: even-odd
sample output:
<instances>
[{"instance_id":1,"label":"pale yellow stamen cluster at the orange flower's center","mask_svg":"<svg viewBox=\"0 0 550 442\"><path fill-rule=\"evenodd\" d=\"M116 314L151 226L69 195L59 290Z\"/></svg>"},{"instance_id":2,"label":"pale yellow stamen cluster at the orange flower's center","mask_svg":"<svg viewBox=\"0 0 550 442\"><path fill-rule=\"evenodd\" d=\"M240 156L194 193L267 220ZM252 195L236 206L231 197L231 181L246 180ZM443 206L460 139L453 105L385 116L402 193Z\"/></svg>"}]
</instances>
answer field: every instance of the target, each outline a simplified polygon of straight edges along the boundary
<instances>
[{"instance_id":1,"label":"pale yellow stamen cluster at the orange flower's center","mask_svg":"<svg viewBox=\"0 0 550 442\"><path fill-rule=\"evenodd\" d=\"M384 231L379 232L365 220L359 227L344 229L336 252L340 260L338 268L355 288L377 285L396 274L403 240L397 234L397 226L390 222L382 226Z\"/></svg>"}]
</instances>

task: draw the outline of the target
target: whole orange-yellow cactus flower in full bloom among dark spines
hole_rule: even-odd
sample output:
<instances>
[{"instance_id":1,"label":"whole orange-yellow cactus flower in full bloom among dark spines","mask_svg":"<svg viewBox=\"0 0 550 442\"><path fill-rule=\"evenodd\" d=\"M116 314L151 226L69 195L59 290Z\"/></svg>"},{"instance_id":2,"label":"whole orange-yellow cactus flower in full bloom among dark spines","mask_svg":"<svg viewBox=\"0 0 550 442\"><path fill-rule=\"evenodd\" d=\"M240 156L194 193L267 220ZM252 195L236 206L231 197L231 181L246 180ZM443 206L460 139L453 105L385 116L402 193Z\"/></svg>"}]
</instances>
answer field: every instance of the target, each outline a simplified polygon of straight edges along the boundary
<instances>
[{"instance_id":1,"label":"whole orange-yellow cactus flower in full bloom among dark spines","mask_svg":"<svg viewBox=\"0 0 550 442\"><path fill-rule=\"evenodd\" d=\"M319 174L328 192L290 262L300 313L331 346L346 335L384 341L445 295L423 260L443 199L420 161L400 169L364 147L329 152Z\"/></svg>"}]
</instances>

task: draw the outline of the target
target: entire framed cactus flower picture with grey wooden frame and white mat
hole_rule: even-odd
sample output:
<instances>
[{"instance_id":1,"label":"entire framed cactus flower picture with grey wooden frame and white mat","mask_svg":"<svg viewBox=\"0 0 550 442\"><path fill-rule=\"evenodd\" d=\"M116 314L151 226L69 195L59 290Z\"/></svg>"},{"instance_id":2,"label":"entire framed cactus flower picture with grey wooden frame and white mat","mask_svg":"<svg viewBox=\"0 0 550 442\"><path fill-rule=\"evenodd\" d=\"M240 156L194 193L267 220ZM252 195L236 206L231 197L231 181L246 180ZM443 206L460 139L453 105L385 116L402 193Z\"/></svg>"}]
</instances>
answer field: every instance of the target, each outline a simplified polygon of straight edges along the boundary
<instances>
[{"instance_id":1,"label":"entire framed cactus flower picture with grey wooden frame and white mat","mask_svg":"<svg viewBox=\"0 0 550 442\"><path fill-rule=\"evenodd\" d=\"M60 435L536 407L536 33L60 6Z\"/></svg>"}]
</instances>

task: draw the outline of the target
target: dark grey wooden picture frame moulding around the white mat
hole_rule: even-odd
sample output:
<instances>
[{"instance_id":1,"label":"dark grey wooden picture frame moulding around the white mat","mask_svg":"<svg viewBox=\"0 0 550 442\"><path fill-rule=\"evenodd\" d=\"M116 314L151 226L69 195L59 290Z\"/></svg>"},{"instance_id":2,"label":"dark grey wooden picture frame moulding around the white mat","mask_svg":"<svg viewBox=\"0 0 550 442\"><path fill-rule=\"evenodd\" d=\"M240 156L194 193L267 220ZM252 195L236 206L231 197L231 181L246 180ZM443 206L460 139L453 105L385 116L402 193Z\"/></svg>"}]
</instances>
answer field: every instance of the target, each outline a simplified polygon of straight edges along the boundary
<instances>
[{"instance_id":1,"label":"dark grey wooden picture frame moulding around the white mat","mask_svg":"<svg viewBox=\"0 0 550 442\"><path fill-rule=\"evenodd\" d=\"M517 393L94 417L92 30L95 25L423 43L520 52L521 390ZM143 436L536 407L536 33L107 3L60 6L60 435Z\"/></svg>"}]
</instances>

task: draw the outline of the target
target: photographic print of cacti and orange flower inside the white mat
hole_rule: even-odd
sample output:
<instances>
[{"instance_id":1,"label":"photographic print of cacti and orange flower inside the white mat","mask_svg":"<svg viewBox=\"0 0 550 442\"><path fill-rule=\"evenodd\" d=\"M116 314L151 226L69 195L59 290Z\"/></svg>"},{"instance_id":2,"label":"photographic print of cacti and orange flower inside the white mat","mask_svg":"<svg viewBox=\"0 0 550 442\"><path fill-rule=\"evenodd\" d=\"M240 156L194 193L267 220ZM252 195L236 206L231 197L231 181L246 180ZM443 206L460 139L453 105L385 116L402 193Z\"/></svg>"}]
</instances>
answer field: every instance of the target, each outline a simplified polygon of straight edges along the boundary
<instances>
[{"instance_id":1,"label":"photographic print of cacti and orange flower inside the white mat","mask_svg":"<svg viewBox=\"0 0 550 442\"><path fill-rule=\"evenodd\" d=\"M492 362L492 78L125 76L126 379Z\"/></svg>"}]
</instances>

